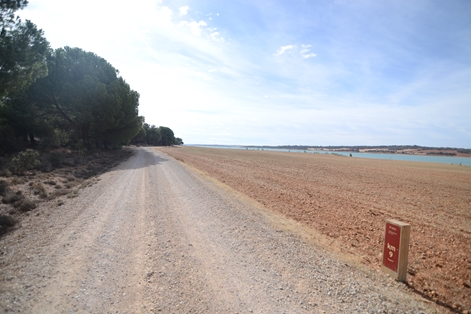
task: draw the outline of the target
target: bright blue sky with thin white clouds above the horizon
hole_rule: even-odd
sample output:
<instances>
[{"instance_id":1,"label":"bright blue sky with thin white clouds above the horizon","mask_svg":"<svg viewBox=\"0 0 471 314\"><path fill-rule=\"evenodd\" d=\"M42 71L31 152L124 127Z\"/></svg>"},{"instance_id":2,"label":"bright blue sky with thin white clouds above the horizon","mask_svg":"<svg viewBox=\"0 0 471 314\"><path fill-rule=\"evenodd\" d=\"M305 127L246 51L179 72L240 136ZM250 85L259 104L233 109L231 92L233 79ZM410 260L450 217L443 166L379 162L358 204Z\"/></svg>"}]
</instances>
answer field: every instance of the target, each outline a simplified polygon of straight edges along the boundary
<instances>
[{"instance_id":1,"label":"bright blue sky with thin white clouds above the horizon","mask_svg":"<svg viewBox=\"0 0 471 314\"><path fill-rule=\"evenodd\" d=\"M30 0L192 144L471 148L471 1Z\"/></svg>"}]
</instances>

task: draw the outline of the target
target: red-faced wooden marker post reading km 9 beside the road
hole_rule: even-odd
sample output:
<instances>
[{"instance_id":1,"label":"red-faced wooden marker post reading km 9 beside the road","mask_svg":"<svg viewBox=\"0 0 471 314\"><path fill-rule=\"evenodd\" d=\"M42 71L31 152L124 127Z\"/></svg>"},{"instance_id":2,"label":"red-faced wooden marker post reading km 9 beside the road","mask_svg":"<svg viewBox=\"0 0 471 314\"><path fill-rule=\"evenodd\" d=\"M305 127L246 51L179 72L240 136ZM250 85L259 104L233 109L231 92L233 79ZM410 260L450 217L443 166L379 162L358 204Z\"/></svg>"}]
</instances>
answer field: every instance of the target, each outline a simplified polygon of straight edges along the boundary
<instances>
[{"instance_id":1,"label":"red-faced wooden marker post reading km 9 beside the road","mask_svg":"<svg viewBox=\"0 0 471 314\"><path fill-rule=\"evenodd\" d=\"M381 270L398 281L406 280L409 237L409 224L394 219L386 221Z\"/></svg>"}]
</instances>

